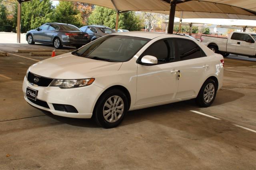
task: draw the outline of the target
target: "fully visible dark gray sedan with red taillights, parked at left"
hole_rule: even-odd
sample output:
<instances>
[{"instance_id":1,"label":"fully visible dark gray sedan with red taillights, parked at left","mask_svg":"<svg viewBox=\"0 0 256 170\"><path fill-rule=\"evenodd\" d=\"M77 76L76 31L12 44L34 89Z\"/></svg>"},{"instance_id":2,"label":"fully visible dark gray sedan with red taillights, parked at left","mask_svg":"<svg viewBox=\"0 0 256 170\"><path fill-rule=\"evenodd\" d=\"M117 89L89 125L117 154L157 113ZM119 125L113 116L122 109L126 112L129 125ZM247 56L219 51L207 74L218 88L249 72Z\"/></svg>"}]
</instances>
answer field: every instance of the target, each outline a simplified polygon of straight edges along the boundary
<instances>
[{"instance_id":1,"label":"fully visible dark gray sedan with red taillights, parked at left","mask_svg":"<svg viewBox=\"0 0 256 170\"><path fill-rule=\"evenodd\" d=\"M59 49L62 45L79 48L90 42L90 37L87 33L70 24L46 23L35 30L28 31L26 40L29 44L35 42L52 44Z\"/></svg>"}]
</instances>

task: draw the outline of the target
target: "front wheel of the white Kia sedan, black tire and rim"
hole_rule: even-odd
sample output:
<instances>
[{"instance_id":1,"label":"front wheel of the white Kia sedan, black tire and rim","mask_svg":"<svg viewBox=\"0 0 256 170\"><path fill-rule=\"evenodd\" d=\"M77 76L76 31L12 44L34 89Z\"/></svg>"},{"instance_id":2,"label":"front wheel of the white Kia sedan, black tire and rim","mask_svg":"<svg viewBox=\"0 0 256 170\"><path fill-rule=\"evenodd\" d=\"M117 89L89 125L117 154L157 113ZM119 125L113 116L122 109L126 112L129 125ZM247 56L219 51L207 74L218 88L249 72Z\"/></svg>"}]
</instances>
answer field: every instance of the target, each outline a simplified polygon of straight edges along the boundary
<instances>
[{"instance_id":1,"label":"front wheel of the white Kia sedan, black tire and rim","mask_svg":"<svg viewBox=\"0 0 256 170\"><path fill-rule=\"evenodd\" d=\"M117 127L128 110L126 95L119 89L106 91L94 109L94 119L103 128Z\"/></svg>"}]
</instances>

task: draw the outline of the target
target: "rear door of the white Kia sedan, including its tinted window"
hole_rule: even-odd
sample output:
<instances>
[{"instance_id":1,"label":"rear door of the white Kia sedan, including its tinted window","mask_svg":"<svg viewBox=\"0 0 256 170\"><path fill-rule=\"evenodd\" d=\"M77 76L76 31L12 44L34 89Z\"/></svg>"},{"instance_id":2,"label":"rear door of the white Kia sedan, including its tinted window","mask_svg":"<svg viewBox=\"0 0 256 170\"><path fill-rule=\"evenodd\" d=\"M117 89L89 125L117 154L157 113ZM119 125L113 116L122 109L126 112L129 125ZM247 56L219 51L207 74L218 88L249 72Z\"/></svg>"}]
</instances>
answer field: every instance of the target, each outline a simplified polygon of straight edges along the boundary
<instances>
[{"instance_id":1,"label":"rear door of the white Kia sedan, including its tinted window","mask_svg":"<svg viewBox=\"0 0 256 170\"><path fill-rule=\"evenodd\" d=\"M178 91L175 98L197 95L206 79L206 69L210 67L209 57L192 40L176 38L177 57L175 67L180 71Z\"/></svg>"}]
</instances>

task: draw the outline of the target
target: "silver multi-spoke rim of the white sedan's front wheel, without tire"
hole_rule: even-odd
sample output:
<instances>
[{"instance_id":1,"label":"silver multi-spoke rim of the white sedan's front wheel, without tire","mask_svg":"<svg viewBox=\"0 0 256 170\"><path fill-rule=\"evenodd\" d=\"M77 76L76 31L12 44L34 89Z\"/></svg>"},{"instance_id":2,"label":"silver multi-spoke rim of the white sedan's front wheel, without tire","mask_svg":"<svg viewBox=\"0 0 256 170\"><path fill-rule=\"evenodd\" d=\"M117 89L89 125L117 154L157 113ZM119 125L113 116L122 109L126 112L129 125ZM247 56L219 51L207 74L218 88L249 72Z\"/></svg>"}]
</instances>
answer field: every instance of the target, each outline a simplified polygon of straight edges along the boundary
<instances>
[{"instance_id":1,"label":"silver multi-spoke rim of the white sedan's front wheel, without tire","mask_svg":"<svg viewBox=\"0 0 256 170\"><path fill-rule=\"evenodd\" d=\"M114 123L118 121L124 113L124 101L120 96L111 96L106 100L103 107L103 117L105 121Z\"/></svg>"}]
</instances>

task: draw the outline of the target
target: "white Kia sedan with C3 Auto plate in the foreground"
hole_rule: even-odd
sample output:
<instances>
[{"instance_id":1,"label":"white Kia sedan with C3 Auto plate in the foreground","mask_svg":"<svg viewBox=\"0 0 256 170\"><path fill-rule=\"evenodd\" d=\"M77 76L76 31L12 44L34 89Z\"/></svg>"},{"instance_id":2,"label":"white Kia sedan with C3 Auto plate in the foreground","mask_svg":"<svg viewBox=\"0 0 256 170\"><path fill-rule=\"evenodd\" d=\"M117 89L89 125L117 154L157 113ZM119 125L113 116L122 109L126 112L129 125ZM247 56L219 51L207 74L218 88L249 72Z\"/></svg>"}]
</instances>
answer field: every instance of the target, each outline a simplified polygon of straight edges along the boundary
<instances>
[{"instance_id":1,"label":"white Kia sedan with C3 Auto plate in the foreground","mask_svg":"<svg viewBox=\"0 0 256 170\"><path fill-rule=\"evenodd\" d=\"M186 36L122 32L30 66L25 100L54 115L104 128L127 111L196 99L208 107L222 87L224 60Z\"/></svg>"}]
</instances>

